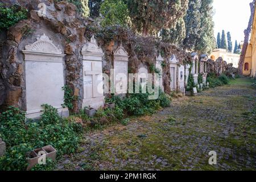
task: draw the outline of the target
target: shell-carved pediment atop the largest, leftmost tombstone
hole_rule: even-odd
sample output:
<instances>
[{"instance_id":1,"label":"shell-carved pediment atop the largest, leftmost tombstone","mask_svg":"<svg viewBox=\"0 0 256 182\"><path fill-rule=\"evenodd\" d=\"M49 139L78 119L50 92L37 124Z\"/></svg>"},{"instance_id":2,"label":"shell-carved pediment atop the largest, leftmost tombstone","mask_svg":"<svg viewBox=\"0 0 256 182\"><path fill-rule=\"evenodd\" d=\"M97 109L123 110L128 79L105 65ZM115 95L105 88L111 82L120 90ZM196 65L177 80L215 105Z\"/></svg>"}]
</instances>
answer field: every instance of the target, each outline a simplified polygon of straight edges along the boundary
<instances>
[{"instance_id":1,"label":"shell-carved pediment atop the largest, leftmost tombstone","mask_svg":"<svg viewBox=\"0 0 256 182\"><path fill-rule=\"evenodd\" d=\"M48 36L46 36L45 34L42 35L40 38L37 38L37 41L35 43L25 46L25 49L27 51L36 51L44 53L62 53L62 51L59 48L57 48L52 43L52 40L50 40Z\"/></svg>"}]
</instances>

